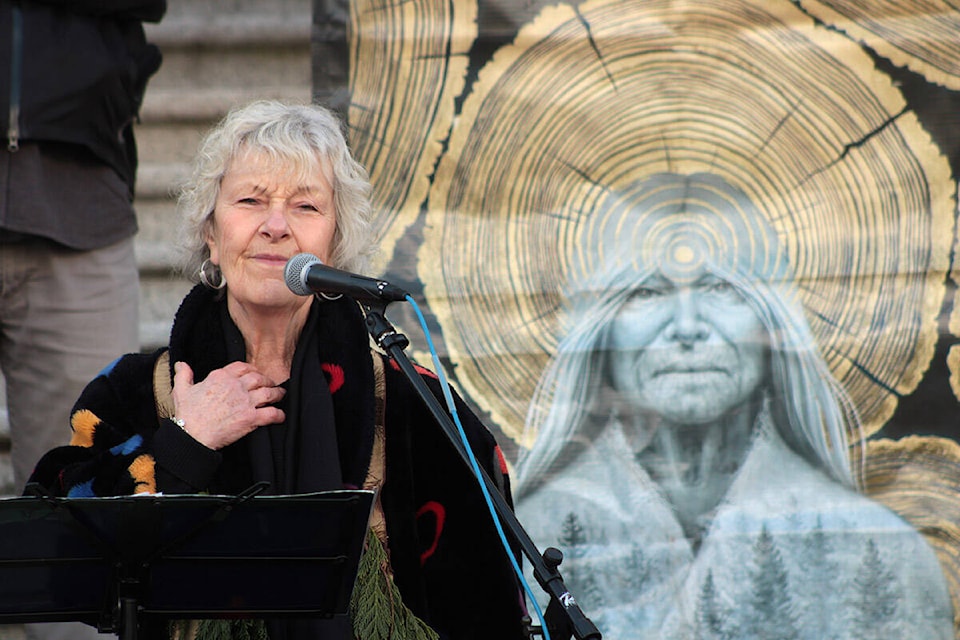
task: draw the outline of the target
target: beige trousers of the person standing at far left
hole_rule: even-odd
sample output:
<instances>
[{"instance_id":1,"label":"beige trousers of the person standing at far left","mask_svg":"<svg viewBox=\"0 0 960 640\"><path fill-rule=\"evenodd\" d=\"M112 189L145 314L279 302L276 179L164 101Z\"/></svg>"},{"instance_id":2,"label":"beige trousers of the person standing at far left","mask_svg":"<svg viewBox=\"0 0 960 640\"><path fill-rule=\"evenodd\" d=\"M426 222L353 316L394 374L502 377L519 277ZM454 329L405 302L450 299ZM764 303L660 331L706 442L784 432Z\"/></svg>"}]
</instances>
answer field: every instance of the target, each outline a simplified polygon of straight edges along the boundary
<instances>
[{"instance_id":1,"label":"beige trousers of the person standing at far left","mask_svg":"<svg viewBox=\"0 0 960 640\"><path fill-rule=\"evenodd\" d=\"M40 456L69 442L70 409L86 384L139 350L139 291L132 239L94 251L0 245L0 370L17 493ZM31 639L96 637L80 623L27 625Z\"/></svg>"}]
</instances>

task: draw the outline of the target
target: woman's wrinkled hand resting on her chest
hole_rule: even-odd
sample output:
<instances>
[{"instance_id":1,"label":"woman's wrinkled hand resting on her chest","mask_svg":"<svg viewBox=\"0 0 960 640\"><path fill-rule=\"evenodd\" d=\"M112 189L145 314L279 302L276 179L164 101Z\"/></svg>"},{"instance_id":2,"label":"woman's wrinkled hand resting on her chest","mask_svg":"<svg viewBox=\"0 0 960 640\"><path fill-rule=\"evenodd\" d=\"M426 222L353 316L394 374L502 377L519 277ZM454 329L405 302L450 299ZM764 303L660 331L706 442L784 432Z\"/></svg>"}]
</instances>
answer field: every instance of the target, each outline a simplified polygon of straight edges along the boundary
<instances>
[{"instance_id":1,"label":"woman's wrinkled hand resting on her chest","mask_svg":"<svg viewBox=\"0 0 960 640\"><path fill-rule=\"evenodd\" d=\"M186 362L173 366L173 402L183 429L209 449L222 449L254 429L284 421L269 405L286 391L246 362L231 362L194 384Z\"/></svg>"}]
</instances>

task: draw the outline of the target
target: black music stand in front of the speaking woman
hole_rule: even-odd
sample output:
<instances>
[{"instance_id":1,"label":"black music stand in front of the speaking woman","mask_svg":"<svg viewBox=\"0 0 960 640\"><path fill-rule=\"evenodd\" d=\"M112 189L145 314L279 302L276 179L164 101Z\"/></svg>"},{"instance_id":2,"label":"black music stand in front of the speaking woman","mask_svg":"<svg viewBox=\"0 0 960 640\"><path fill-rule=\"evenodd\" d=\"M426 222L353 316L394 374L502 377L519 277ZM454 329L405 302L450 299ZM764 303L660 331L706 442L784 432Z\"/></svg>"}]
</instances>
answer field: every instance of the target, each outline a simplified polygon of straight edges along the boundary
<instances>
[{"instance_id":1,"label":"black music stand in front of the speaking woman","mask_svg":"<svg viewBox=\"0 0 960 640\"><path fill-rule=\"evenodd\" d=\"M349 616L370 491L0 500L0 623Z\"/></svg>"}]
</instances>

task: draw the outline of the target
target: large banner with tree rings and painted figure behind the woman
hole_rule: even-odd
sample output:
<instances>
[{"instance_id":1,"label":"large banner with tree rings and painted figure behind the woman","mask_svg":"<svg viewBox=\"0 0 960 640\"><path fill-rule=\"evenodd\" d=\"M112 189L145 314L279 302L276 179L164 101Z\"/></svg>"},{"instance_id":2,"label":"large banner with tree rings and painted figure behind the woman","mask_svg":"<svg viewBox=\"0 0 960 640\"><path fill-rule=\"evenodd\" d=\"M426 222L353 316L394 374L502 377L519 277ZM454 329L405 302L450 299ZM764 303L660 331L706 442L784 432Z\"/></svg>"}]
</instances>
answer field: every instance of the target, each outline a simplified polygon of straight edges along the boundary
<instances>
[{"instance_id":1,"label":"large banner with tree rings and painted figure behind the woman","mask_svg":"<svg viewBox=\"0 0 960 640\"><path fill-rule=\"evenodd\" d=\"M947 0L317 0L378 269L604 637L955 637L958 29Z\"/></svg>"}]
</instances>

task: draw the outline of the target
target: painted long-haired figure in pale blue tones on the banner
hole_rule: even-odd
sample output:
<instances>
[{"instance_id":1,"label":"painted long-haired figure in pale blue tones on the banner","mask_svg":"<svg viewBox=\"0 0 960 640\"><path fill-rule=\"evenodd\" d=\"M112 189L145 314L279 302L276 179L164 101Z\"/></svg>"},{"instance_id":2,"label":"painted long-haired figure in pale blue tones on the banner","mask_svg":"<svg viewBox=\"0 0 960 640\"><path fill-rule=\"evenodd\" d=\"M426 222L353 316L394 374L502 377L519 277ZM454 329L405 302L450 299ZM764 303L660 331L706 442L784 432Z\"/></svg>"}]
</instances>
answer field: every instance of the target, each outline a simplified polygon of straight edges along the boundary
<instances>
[{"instance_id":1,"label":"painted long-haired figure in pale blue tones on the banner","mask_svg":"<svg viewBox=\"0 0 960 640\"><path fill-rule=\"evenodd\" d=\"M952 638L933 550L858 491L856 412L761 212L709 174L619 204L516 485L604 637Z\"/></svg>"}]
</instances>

